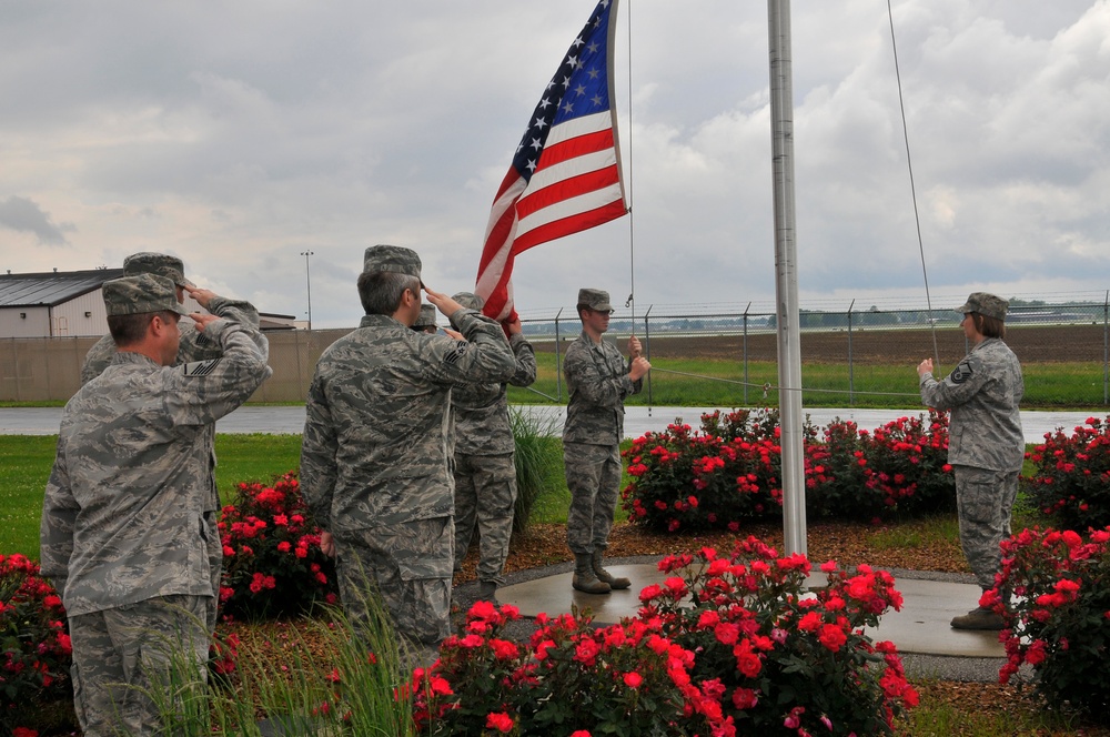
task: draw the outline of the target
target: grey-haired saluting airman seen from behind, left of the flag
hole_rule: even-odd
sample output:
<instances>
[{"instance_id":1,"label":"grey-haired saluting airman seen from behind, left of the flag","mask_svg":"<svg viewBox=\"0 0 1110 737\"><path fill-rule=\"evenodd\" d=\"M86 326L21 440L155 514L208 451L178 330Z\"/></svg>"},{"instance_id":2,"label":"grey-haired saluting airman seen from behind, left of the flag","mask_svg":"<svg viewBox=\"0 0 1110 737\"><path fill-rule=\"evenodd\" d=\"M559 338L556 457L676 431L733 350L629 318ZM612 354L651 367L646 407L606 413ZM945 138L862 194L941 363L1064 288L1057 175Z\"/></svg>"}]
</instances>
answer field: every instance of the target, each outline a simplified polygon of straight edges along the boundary
<instances>
[{"instance_id":1,"label":"grey-haired saluting airman seen from behind, left of the flag","mask_svg":"<svg viewBox=\"0 0 1110 737\"><path fill-rule=\"evenodd\" d=\"M420 270L408 249L366 250L359 277L366 314L324 351L309 388L301 488L325 531L321 547L336 555L340 597L355 626L369 624L365 602L376 585L397 632L430 663L450 625L450 392L508 381L516 360L501 325L426 287L466 340L411 330Z\"/></svg>"}]
</instances>

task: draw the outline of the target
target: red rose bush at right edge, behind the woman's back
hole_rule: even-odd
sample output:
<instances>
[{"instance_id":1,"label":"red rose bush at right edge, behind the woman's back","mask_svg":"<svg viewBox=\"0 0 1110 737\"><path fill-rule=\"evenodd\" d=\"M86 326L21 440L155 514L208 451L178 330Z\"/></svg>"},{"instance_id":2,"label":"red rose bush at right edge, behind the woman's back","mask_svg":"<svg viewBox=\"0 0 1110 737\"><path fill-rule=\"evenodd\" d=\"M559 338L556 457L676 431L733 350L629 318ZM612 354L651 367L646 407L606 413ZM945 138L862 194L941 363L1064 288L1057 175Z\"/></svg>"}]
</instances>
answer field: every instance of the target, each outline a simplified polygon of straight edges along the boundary
<instances>
[{"instance_id":1,"label":"red rose bush at right edge, behind the woman's back","mask_svg":"<svg viewBox=\"0 0 1110 737\"><path fill-rule=\"evenodd\" d=\"M1033 464L1026 478L1030 499L1054 526L1110 525L1110 417L1088 417L1071 435L1046 433L1026 458Z\"/></svg>"}]
</instances>

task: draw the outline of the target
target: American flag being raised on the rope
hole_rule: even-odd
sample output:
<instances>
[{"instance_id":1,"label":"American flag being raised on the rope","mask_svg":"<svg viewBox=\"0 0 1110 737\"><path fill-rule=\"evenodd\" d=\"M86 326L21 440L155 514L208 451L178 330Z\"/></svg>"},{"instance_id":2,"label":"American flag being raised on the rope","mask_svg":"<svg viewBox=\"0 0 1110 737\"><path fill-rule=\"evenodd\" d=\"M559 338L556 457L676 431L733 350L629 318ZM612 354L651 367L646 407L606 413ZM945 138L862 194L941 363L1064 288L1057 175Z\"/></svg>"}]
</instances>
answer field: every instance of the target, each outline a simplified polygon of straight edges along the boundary
<instances>
[{"instance_id":1,"label":"American flag being raised on the rope","mask_svg":"<svg viewBox=\"0 0 1110 737\"><path fill-rule=\"evenodd\" d=\"M513 260L534 245L625 214L613 88L613 17L601 0L532 114L494 198L475 294L485 314L515 314Z\"/></svg>"}]
</instances>

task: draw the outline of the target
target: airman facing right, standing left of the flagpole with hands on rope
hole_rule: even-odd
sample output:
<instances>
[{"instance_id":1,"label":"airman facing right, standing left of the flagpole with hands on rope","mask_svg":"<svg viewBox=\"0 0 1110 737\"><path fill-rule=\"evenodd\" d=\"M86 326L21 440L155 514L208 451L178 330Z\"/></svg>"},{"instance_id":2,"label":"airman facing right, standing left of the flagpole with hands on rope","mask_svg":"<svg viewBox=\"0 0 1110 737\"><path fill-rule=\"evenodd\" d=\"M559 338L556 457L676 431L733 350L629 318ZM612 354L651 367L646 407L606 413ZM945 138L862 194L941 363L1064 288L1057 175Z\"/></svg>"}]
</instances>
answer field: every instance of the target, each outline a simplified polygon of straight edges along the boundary
<instances>
[{"instance_id":1,"label":"airman facing right, standing left of the flagpole with hands on rope","mask_svg":"<svg viewBox=\"0 0 1110 737\"><path fill-rule=\"evenodd\" d=\"M574 553L574 588L607 594L632 585L610 575L603 557L620 492L624 398L640 391L652 364L640 355L635 335L628 339L627 364L620 351L602 339L613 314L608 292L578 290L577 310L582 335L563 359L569 393L563 428L563 464L571 489L566 542Z\"/></svg>"}]
</instances>

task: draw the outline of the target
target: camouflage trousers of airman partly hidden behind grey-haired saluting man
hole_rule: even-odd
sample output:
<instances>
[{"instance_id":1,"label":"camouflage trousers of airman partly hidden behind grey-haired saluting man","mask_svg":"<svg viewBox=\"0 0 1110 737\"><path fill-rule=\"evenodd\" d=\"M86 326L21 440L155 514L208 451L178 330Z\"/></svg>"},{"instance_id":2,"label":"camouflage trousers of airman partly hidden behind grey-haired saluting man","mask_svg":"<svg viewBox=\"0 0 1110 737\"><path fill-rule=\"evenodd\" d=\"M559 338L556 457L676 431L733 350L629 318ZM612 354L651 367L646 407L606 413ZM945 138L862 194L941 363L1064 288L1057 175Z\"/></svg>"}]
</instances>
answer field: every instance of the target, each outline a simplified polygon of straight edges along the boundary
<instances>
[{"instance_id":1,"label":"camouflage trousers of airman partly hidden behind grey-haired saluting man","mask_svg":"<svg viewBox=\"0 0 1110 737\"><path fill-rule=\"evenodd\" d=\"M513 454L455 454L455 571L478 529L478 580L504 585L516 508Z\"/></svg>"}]
</instances>

